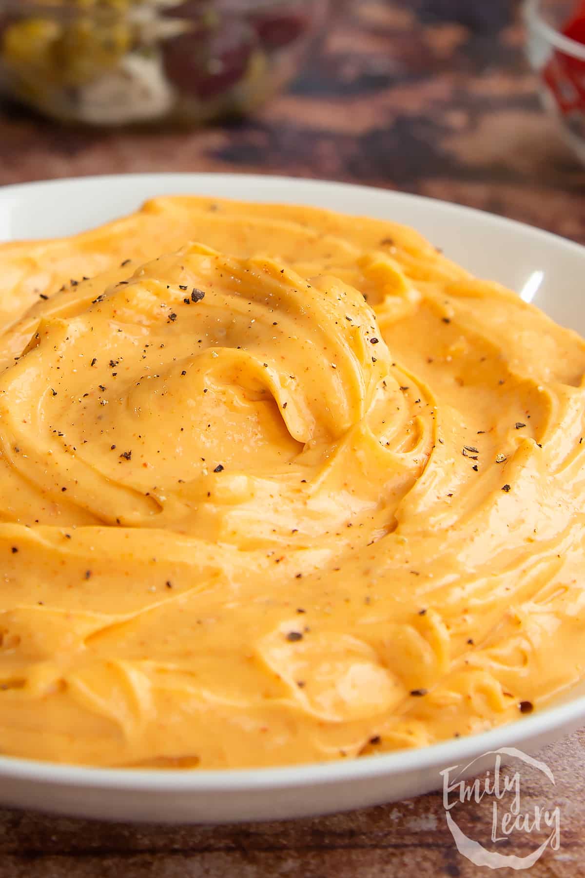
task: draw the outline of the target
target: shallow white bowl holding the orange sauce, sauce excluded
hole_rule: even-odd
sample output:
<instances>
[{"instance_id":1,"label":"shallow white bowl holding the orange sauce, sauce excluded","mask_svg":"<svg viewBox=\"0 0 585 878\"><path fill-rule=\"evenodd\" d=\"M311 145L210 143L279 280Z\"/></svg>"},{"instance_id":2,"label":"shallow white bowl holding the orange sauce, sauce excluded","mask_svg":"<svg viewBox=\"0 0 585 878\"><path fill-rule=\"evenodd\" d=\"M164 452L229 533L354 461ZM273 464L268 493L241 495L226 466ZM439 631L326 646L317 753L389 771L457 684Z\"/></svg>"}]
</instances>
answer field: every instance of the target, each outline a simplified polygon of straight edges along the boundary
<instances>
[{"instance_id":1,"label":"shallow white bowl holding the orange sauce, sauce excluded","mask_svg":"<svg viewBox=\"0 0 585 878\"><path fill-rule=\"evenodd\" d=\"M585 335L585 248L487 213L361 186L230 174L89 177L0 189L0 241L54 237L135 210L156 195L317 205L416 227L446 255L516 290ZM582 690L581 690L582 691ZM441 769L499 747L533 752L585 724L574 693L516 723L423 750L324 765L239 771L78 768L0 757L0 804L116 820L219 823L305 817L392 802L439 788ZM487 756L474 773L493 765Z\"/></svg>"}]
</instances>

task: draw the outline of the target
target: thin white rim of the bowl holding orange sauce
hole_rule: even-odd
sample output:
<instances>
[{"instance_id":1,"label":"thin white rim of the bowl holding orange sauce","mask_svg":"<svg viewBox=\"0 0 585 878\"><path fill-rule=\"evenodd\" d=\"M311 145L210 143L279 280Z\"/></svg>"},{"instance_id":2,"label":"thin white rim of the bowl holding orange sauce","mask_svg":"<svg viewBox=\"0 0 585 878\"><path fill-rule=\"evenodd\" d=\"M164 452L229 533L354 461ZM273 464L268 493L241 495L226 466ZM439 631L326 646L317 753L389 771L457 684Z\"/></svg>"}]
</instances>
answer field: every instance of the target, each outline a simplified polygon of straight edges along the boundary
<instances>
[{"instance_id":1,"label":"thin white rim of the bowl holding orange sauce","mask_svg":"<svg viewBox=\"0 0 585 878\"><path fill-rule=\"evenodd\" d=\"M286 176L229 174L229 173L130 173L119 175L68 177L55 180L31 181L24 184L0 186L0 201L4 197L14 198L19 193L35 189L59 188L81 184L89 188L101 188L103 185L115 185L117 182L132 178L132 184L167 180L171 187L185 179L197 178L204 184L212 178L224 182L241 181L255 184L259 200L271 184L276 187L282 184L307 183L322 189L342 188L348 194L351 191L366 193L373 197L375 193L383 194L384 198L395 198L397 202L406 201L424 205L435 205L441 212L457 213L469 219L482 219L489 227L503 226L510 234L531 234L540 241L549 241L554 247L579 255L585 262L585 248L575 241L569 241L560 235L547 232L537 227L514 219L500 217L489 212L480 211L466 205L457 205L438 198L410 194L402 191L382 190L379 187L346 184L337 181L306 179ZM171 193L169 191L168 194ZM256 191L256 190L254 190ZM236 198L237 196L232 196ZM272 204L280 203L277 198L268 198ZM325 208L327 209L327 208ZM375 778L379 775L406 774L410 771L424 772L438 765L461 764L464 760L477 757L479 752L493 752L498 747L522 744L524 739L539 738L546 732L567 727L573 728L585 720L585 695L575 694L563 699L562 702L547 705L531 716L518 717L512 723L497 726L494 729L479 732L462 738L453 738L438 744L413 749L396 750L388 753L321 763L299 763L289 766L262 766L255 768L226 769L153 769L145 767L100 767L78 766L69 763L54 763L20 757L0 756L0 779L13 779L34 784L57 784L59 786L75 786L77 788L93 788L103 790L131 790L145 792L174 792L188 794L193 792L238 792L253 790L275 790L282 788L303 788L308 784L331 785L339 781L358 781Z\"/></svg>"}]
</instances>

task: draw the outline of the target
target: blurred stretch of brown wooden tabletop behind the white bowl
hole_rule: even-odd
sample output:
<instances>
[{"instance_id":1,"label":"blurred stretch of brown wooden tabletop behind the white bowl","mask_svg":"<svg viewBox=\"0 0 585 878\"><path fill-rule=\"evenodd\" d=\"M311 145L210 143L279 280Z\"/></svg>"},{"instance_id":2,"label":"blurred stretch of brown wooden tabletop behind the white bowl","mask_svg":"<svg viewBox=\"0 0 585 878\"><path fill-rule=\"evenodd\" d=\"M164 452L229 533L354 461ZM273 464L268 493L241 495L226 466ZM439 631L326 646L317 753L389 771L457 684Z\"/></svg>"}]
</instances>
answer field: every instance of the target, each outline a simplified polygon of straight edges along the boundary
<instances>
[{"instance_id":1,"label":"blurred stretch of brown wooden tabletop behind the white bowl","mask_svg":"<svg viewBox=\"0 0 585 878\"><path fill-rule=\"evenodd\" d=\"M97 133L0 111L0 184L260 170L446 198L585 241L585 168L540 109L517 2L346 7L288 93L241 123Z\"/></svg>"}]
</instances>

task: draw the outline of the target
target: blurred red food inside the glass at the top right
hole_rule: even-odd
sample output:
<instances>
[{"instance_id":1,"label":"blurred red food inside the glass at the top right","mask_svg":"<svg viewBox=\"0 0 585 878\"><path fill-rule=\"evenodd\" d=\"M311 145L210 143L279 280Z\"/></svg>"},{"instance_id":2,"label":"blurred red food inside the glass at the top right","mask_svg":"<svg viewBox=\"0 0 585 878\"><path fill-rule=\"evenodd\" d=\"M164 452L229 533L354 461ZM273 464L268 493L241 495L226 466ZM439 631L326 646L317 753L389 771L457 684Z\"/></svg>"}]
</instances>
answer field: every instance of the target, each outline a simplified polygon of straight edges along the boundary
<instances>
[{"instance_id":1,"label":"blurred red food inside the glass at the top right","mask_svg":"<svg viewBox=\"0 0 585 878\"><path fill-rule=\"evenodd\" d=\"M585 47L585 0L581 0L561 33ZM585 112L585 61L557 49L546 65L543 77L563 115Z\"/></svg>"}]
</instances>

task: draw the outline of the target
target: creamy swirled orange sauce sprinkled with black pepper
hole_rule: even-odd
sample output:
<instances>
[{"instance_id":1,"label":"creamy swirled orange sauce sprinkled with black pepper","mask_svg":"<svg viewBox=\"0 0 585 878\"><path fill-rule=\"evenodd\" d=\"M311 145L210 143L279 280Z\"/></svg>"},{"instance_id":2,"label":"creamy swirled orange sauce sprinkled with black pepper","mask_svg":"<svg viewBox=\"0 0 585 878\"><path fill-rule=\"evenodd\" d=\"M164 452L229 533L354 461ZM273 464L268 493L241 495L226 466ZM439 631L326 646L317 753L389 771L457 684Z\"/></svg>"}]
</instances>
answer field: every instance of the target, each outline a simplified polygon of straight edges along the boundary
<instances>
[{"instance_id":1,"label":"creamy swirled orange sauce sprinkled with black pepper","mask_svg":"<svg viewBox=\"0 0 585 878\"><path fill-rule=\"evenodd\" d=\"M0 752L347 759L581 680L580 337L396 224L207 198L0 292Z\"/></svg>"}]
</instances>

